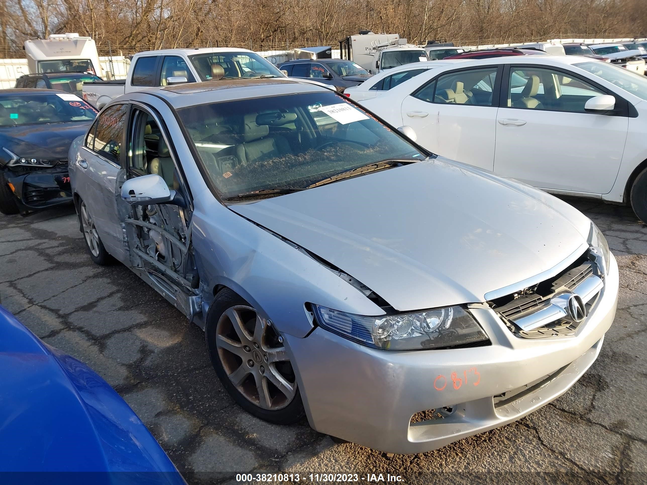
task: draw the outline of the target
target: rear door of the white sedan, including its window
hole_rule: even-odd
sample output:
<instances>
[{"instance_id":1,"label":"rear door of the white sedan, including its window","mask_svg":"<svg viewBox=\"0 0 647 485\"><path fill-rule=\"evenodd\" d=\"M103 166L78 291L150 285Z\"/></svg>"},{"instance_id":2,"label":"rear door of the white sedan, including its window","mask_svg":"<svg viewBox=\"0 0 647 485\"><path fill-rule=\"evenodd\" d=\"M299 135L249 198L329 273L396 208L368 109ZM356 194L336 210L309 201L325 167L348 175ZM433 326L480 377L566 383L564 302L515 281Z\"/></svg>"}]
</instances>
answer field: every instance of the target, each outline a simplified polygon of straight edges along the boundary
<instances>
[{"instance_id":1,"label":"rear door of the white sedan, including its window","mask_svg":"<svg viewBox=\"0 0 647 485\"><path fill-rule=\"evenodd\" d=\"M502 68L456 69L428 81L402 102L402 124L438 155L492 170Z\"/></svg>"}]
</instances>

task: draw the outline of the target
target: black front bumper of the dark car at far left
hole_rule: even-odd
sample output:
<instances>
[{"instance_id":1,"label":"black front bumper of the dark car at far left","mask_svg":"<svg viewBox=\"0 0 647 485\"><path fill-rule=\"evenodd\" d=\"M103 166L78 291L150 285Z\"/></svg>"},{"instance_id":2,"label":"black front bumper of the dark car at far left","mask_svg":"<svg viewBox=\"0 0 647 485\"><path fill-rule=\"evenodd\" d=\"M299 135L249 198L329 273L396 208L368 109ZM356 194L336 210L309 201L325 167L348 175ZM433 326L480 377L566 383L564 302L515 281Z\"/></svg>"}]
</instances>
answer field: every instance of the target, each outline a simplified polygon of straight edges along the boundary
<instances>
[{"instance_id":1,"label":"black front bumper of the dark car at far left","mask_svg":"<svg viewBox=\"0 0 647 485\"><path fill-rule=\"evenodd\" d=\"M43 168L29 172L6 170L7 182L23 210L40 210L72 202L67 166Z\"/></svg>"}]
</instances>

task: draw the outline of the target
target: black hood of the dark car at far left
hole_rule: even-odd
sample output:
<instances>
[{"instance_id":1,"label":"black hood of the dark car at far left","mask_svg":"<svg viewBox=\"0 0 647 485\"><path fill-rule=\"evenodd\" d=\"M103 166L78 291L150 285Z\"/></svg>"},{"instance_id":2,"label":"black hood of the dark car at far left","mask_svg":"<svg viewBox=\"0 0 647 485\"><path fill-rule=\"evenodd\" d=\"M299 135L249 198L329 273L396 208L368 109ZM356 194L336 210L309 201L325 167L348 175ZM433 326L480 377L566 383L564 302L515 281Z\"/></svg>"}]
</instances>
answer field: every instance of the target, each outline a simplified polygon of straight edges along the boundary
<instances>
[{"instance_id":1,"label":"black hood of the dark car at far left","mask_svg":"<svg viewBox=\"0 0 647 485\"><path fill-rule=\"evenodd\" d=\"M25 158L67 160L67 151L72 141L77 136L85 135L91 124L92 122L5 126L0 128L0 146Z\"/></svg>"}]
</instances>

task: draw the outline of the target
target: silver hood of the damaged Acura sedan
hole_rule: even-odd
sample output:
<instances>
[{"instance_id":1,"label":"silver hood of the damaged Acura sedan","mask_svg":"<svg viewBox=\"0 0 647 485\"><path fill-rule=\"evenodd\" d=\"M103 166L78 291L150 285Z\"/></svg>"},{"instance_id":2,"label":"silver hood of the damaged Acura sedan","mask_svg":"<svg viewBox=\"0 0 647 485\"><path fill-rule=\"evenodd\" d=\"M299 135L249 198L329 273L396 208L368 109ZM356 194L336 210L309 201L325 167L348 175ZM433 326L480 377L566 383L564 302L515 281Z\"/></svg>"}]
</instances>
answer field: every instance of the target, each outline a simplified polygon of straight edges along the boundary
<instances>
[{"instance_id":1,"label":"silver hood of the damaged Acura sedan","mask_svg":"<svg viewBox=\"0 0 647 485\"><path fill-rule=\"evenodd\" d=\"M484 301L567 259L590 229L551 195L441 159L230 209L400 311Z\"/></svg>"}]
</instances>

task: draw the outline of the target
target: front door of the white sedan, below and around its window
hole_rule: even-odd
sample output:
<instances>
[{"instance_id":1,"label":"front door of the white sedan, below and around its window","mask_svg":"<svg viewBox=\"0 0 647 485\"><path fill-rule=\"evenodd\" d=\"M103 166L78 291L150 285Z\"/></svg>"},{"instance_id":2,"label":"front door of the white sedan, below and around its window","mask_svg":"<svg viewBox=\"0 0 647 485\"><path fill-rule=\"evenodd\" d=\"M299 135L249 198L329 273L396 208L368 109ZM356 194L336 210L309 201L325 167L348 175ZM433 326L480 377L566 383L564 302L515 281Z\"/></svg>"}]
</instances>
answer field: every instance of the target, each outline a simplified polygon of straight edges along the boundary
<instances>
[{"instance_id":1,"label":"front door of the white sedan, below and around its window","mask_svg":"<svg viewBox=\"0 0 647 485\"><path fill-rule=\"evenodd\" d=\"M543 189L611 191L629 118L621 111L586 113L587 100L601 94L613 92L569 70L511 65L497 116L494 171ZM616 101L626 106L619 96Z\"/></svg>"}]
</instances>

